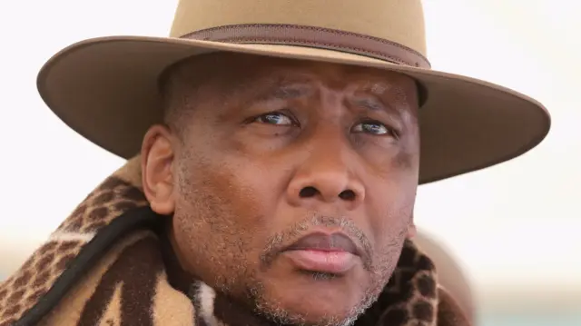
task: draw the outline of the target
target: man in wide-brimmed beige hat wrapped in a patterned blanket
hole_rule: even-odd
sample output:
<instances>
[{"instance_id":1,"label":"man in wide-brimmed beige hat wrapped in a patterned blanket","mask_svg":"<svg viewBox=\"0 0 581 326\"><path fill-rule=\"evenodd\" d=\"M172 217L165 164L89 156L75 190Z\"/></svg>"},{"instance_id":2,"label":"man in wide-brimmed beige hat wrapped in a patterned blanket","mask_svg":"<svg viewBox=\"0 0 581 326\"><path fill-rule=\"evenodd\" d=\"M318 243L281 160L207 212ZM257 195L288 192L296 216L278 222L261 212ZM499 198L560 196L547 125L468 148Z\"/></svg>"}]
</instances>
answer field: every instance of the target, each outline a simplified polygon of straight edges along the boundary
<instances>
[{"instance_id":1,"label":"man in wide-brimmed beige hat wrapped in a patterned blanket","mask_svg":"<svg viewBox=\"0 0 581 326\"><path fill-rule=\"evenodd\" d=\"M417 0L182 0L171 38L74 44L38 86L129 161L2 284L0 325L466 325L410 241L417 187L549 128L430 70Z\"/></svg>"}]
</instances>

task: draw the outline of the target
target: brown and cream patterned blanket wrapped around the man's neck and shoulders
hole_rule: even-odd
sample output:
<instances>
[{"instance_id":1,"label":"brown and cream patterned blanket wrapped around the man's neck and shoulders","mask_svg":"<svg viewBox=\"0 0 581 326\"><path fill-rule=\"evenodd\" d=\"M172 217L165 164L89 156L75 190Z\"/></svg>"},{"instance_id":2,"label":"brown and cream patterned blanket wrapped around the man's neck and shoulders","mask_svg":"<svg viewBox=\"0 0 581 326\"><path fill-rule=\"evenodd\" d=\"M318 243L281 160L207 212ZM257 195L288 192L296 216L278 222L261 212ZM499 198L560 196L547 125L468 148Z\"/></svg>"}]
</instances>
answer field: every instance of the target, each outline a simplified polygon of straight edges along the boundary
<instances>
[{"instance_id":1,"label":"brown and cream patterned blanket wrapped around the man's neck and shoulders","mask_svg":"<svg viewBox=\"0 0 581 326\"><path fill-rule=\"evenodd\" d=\"M167 279L139 157L113 173L10 278L0 283L0 326L213 326L214 291ZM433 263L407 242L399 265L356 325L466 326Z\"/></svg>"}]
</instances>

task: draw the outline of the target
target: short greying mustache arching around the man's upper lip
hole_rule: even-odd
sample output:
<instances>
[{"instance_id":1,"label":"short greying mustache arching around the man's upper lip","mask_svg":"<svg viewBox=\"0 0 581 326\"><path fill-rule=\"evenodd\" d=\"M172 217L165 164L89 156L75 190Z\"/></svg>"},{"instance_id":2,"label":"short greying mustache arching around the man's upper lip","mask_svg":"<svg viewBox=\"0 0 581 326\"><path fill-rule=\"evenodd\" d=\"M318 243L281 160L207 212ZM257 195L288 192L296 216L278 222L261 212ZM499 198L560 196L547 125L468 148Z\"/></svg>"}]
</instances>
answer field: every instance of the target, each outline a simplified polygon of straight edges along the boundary
<instances>
[{"instance_id":1,"label":"short greying mustache arching around the man's upper lip","mask_svg":"<svg viewBox=\"0 0 581 326\"><path fill-rule=\"evenodd\" d=\"M317 226L336 227L339 228L340 232L347 234L361 250L360 259L363 262L363 267L370 271L373 252L365 232L362 232L355 222L347 216L330 216L319 212L312 212L304 219L292 224L285 231L272 235L261 254L262 267L268 268L285 248L288 248L293 242L298 241L309 233L312 227Z\"/></svg>"}]
</instances>

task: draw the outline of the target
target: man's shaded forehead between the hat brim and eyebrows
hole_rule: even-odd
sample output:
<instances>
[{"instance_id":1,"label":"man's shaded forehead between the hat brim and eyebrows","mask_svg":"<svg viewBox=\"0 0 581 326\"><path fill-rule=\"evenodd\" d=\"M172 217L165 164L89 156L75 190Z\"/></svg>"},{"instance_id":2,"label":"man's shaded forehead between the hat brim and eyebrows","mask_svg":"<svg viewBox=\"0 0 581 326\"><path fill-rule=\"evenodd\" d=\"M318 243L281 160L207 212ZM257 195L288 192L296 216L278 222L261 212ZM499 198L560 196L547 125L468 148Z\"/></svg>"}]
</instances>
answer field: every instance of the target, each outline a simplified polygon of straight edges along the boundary
<instances>
[{"instance_id":1,"label":"man's shaded forehead between the hat brim and eyebrows","mask_svg":"<svg viewBox=\"0 0 581 326\"><path fill-rule=\"evenodd\" d=\"M357 83L369 92L383 94L414 84L406 75L369 67L251 54L198 55L175 66L173 72L179 76L180 83L220 84L230 92L244 92L259 84L270 88L323 81L337 86Z\"/></svg>"}]
</instances>

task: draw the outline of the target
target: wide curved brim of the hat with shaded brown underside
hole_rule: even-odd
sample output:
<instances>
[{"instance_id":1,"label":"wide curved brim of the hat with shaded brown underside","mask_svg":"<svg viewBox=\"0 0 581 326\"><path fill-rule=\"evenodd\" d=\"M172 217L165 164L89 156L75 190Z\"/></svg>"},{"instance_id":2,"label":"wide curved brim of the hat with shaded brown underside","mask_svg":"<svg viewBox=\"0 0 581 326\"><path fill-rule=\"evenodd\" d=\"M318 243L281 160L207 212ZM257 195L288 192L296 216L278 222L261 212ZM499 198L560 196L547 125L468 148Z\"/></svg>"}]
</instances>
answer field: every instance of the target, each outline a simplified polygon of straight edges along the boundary
<instances>
[{"instance_id":1,"label":"wide curved brim of the hat with shaded brown underside","mask_svg":"<svg viewBox=\"0 0 581 326\"><path fill-rule=\"evenodd\" d=\"M458 74L390 64L338 51L272 44L228 44L147 36L110 36L73 44L38 74L44 103L75 132L130 158L162 121L158 78L197 54L235 52L374 67L408 74L426 88L419 113L419 183L502 163L540 143L550 128L542 104L505 87Z\"/></svg>"}]
</instances>

